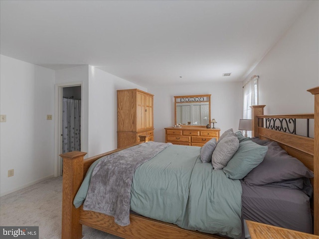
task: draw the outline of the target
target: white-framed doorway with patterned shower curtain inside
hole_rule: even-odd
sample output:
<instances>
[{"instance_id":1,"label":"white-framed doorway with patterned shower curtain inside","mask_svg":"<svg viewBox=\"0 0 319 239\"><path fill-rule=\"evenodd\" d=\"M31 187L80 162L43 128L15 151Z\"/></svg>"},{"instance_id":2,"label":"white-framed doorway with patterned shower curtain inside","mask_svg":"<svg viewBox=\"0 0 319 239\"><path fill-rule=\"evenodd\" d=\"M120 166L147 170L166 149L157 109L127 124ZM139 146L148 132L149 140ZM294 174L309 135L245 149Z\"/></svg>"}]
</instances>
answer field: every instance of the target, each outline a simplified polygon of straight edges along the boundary
<instances>
[{"instance_id":1,"label":"white-framed doorway with patterned shower curtain inside","mask_svg":"<svg viewBox=\"0 0 319 239\"><path fill-rule=\"evenodd\" d=\"M81 151L82 83L57 84L55 101L55 176L62 175L61 153Z\"/></svg>"}]
</instances>

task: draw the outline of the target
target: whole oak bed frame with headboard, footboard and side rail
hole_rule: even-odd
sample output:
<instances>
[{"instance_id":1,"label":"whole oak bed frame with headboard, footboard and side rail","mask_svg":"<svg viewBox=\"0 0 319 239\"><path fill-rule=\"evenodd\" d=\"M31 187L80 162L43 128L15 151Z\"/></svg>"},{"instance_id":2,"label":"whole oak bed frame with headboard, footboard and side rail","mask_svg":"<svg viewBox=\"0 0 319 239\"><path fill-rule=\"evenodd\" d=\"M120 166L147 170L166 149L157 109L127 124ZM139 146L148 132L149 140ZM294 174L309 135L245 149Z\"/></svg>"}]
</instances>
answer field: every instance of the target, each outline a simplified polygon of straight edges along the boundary
<instances>
[{"instance_id":1,"label":"whole oak bed frame with headboard, footboard and side rail","mask_svg":"<svg viewBox=\"0 0 319 239\"><path fill-rule=\"evenodd\" d=\"M265 106L253 106L253 135L262 139L277 141L292 156L301 160L309 169L314 171L314 234L319 235L319 87L308 90L315 95L315 113L300 115L264 116ZM273 121L281 123L281 127L269 126ZM287 120L288 119L288 120ZM306 119L309 128L309 119L314 119L314 138L299 136L287 132L283 123L296 119ZM296 126L294 126L296 128ZM273 128L273 129L271 129ZM277 130L274 130L277 129ZM309 129L308 129L309 131ZM296 130L295 130L296 133ZM126 147L128 148L128 147ZM63 158L63 195L62 195L62 239L82 238L82 225L86 225L125 239L224 239L223 237L188 231L173 224L163 223L143 216L131 214L131 224L121 227L114 223L114 218L101 213L84 211L82 206L76 209L73 199L83 181L90 165L97 159L122 150L116 149L84 159L85 152L68 152L61 154Z\"/></svg>"}]
</instances>

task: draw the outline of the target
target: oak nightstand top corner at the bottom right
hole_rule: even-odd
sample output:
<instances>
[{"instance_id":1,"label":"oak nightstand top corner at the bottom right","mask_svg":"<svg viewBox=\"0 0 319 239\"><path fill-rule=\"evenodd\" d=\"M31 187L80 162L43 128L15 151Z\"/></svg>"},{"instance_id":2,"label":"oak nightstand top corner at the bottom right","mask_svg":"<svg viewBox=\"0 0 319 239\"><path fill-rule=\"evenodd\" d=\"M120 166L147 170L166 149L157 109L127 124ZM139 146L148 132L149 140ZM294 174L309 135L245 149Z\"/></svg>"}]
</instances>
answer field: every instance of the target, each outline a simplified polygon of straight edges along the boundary
<instances>
[{"instance_id":1,"label":"oak nightstand top corner at the bottom right","mask_svg":"<svg viewBox=\"0 0 319 239\"><path fill-rule=\"evenodd\" d=\"M251 239L319 239L319 236L302 233L263 223L246 221Z\"/></svg>"}]
</instances>

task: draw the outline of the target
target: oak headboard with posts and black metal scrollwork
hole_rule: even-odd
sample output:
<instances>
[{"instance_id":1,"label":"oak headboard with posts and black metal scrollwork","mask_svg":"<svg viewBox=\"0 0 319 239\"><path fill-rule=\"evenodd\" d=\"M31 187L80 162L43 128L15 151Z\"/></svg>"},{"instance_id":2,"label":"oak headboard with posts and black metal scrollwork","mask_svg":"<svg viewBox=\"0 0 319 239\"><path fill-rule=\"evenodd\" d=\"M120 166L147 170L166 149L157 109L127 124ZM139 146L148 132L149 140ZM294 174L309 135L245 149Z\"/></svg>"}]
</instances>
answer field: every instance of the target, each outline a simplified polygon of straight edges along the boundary
<instances>
[{"instance_id":1,"label":"oak headboard with posts and black metal scrollwork","mask_svg":"<svg viewBox=\"0 0 319 239\"><path fill-rule=\"evenodd\" d=\"M298 158L315 174L314 234L319 235L319 87L308 90L315 95L315 113L298 115L264 115L265 105L252 106L253 136L276 141L291 156ZM296 134L296 120L307 121L307 136ZM314 120L314 138L309 137L309 121Z\"/></svg>"}]
</instances>

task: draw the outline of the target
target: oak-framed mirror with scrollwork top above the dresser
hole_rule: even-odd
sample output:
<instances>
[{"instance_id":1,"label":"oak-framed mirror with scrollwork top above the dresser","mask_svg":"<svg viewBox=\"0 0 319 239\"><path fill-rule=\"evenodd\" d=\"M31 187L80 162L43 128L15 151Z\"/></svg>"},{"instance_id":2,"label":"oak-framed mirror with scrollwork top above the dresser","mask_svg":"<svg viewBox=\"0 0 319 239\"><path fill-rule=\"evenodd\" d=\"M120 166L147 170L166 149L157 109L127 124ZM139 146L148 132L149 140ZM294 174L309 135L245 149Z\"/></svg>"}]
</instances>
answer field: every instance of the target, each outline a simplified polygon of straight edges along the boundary
<instances>
[{"instance_id":1,"label":"oak-framed mirror with scrollwork top above the dresser","mask_svg":"<svg viewBox=\"0 0 319 239\"><path fill-rule=\"evenodd\" d=\"M210 124L210 96L175 96L175 124Z\"/></svg>"}]
</instances>

